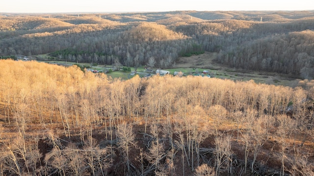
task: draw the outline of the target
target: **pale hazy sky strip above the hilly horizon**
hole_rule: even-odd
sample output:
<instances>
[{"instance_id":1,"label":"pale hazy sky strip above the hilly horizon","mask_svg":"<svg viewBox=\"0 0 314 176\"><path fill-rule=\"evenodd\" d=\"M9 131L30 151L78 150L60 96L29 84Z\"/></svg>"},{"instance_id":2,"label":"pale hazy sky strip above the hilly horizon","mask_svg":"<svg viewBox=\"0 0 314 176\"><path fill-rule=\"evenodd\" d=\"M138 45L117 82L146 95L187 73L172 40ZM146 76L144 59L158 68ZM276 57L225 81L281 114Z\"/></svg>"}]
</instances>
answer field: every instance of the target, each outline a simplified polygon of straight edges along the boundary
<instances>
[{"instance_id":1,"label":"pale hazy sky strip above the hilly horizon","mask_svg":"<svg viewBox=\"0 0 314 176\"><path fill-rule=\"evenodd\" d=\"M313 0L0 0L0 12L314 10Z\"/></svg>"}]
</instances>

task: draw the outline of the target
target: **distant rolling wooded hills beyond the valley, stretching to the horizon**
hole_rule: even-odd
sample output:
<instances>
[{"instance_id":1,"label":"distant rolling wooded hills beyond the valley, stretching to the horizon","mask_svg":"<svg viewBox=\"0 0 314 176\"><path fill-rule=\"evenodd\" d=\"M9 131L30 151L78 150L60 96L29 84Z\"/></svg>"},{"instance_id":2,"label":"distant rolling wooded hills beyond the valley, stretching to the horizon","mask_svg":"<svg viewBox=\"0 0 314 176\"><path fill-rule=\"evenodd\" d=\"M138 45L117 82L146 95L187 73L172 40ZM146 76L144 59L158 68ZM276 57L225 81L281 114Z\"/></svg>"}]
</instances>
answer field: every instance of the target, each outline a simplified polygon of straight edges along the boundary
<instances>
[{"instance_id":1,"label":"distant rolling wooded hills beyond the valley, stretching to the horizon","mask_svg":"<svg viewBox=\"0 0 314 176\"><path fill-rule=\"evenodd\" d=\"M231 68L314 77L313 11L1 15L3 56L170 68L209 51Z\"/></svg>"}]
</instances>

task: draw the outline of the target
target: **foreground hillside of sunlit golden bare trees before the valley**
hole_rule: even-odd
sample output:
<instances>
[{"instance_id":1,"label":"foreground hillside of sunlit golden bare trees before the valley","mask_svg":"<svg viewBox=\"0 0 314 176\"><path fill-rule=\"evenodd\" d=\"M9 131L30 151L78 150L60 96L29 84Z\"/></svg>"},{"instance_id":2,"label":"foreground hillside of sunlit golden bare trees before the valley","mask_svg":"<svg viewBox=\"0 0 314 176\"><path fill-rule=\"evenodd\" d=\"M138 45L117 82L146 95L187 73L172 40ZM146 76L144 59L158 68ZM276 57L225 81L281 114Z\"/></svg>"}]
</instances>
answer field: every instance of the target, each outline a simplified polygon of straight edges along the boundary
<instances>
[{"instance_id":1,"label":"foreground hillside of sunlit golden bare trees before the valley","mask_svg":"<svg viewBox=\"0 0 314 176\"><path fill-rule=\"evenodd\" d=\"M121 81L77 66L0 65L3 175L314 175L313 81Z\"/></svg>"}]
</instances>

